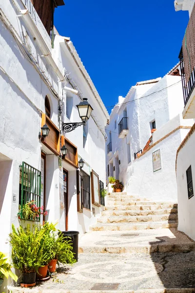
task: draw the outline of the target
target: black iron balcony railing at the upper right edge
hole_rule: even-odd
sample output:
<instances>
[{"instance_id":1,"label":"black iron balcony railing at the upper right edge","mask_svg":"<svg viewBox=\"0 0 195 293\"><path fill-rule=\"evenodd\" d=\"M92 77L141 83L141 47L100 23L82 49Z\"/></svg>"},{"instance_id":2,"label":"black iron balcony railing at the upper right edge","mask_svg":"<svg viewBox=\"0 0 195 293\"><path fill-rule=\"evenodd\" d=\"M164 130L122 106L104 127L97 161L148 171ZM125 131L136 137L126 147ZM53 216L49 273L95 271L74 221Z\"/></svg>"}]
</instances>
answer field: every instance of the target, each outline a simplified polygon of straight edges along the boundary
<instances>
[{"instance_id":1,"label":"black iron balcony railing at the upper right edge","mask_svg":"<svg viewBox=\"0 0 195 293\"><path fill-rule=\"evenodd\" d=\"M190 95L192 94L195 88L195 68L193 68L190 79L186 83L182 48L179 54L179 60L180 60L180 67L181 67L181 81L182 81L182 88L183 88L184 104L186 105L190 98Z\"/></svg>"}]
</instances>

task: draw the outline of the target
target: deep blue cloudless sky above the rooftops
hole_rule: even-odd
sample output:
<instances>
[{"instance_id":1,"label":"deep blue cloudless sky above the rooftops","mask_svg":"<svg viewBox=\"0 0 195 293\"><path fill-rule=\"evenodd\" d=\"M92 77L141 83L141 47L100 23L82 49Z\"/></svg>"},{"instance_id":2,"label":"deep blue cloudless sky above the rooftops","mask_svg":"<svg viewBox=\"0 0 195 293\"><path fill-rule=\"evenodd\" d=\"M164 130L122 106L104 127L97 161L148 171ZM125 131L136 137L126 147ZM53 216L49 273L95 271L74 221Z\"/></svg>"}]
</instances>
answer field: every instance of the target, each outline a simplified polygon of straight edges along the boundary
<instances>
[{"instance_id":1,"label":"deep blue cloudless sky above the rooftops","mask_svg":"<svg viewBox=\"0 0 195 293\"><path fill-rule=\"evenodd\" d=\"M65 0L55 10L59 34L73 41L109 112L132 85L178 62L188 21L174 0Z\"/></svg>"}]
</instances>

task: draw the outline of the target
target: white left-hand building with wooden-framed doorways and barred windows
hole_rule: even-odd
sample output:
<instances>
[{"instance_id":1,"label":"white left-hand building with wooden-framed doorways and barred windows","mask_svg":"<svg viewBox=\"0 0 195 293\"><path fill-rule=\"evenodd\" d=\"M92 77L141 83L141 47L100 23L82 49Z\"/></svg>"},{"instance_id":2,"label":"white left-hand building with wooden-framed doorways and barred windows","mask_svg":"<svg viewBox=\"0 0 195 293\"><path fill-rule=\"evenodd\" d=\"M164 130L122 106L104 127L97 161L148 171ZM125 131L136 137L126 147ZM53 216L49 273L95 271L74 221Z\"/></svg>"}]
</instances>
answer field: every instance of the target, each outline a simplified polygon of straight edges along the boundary
<instances>
[{"instance_id":1,"label":"white left-hand building with wooden-framed doorways and barred windows","mask_svg":"<svg viewBox=\"0 0 195 293\"><path fill-rule=\"evenodd\" d=\"M51 42L53 9L41 13L44 5L38 0L33 3L0 1L3 252L10 250L6 239L11 224L19 226L19 204L35 200L48 211L41 222L59 221L60 230L84 233L100 213L99 180L101 188L105 184L104 129L109 115L72 42L60 36ZM63 4L55 0L55 5ZM94 108L87 125L65 133L63 123L81 122L76 105L83 98ZM39 138L44 124L49 135ZM68 151L61 162L63 145ZM80 158L85 164L79 172Z\"/></svg>"}]
</instances>

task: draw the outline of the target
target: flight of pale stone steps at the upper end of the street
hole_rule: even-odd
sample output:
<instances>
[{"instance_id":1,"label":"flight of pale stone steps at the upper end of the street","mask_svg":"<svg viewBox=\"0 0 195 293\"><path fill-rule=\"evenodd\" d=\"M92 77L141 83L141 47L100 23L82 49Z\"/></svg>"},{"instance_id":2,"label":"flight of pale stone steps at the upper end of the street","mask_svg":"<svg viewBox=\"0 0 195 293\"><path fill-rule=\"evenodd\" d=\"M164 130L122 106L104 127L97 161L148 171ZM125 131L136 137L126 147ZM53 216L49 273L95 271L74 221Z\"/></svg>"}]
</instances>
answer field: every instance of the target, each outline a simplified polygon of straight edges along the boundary
<instances>
[{"instance_id":1,"label":"flight of pale stone steps at the upper end of the street","mask_svg":"<svg viewBox=\"0 0 195 293\"><path fill-rule=\"evenodd\" d=\"M110 193L107 206L92 231L145 230L177 228L177 204L151 201L127 195L126 192Z\"/></svg>"}]
</instances>

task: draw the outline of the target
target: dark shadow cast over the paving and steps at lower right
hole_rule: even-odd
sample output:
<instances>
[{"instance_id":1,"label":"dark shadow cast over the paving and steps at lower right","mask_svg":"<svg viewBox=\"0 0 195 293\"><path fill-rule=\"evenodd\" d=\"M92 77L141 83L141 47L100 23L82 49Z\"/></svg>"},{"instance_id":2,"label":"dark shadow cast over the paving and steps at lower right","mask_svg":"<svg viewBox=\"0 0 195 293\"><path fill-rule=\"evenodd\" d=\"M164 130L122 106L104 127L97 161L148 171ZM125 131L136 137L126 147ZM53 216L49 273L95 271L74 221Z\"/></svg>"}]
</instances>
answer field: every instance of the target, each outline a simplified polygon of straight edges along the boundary
<instances>
[{"instance_id":1,"label":"dark shadow cast over the paving and steps at lower right","mask_svg":"<svg viewBox=\"0 0 195 293\"><path fill-rule=\"evenodd\" d=\"M175 209L176 205L169 215L169 224L177 223L177 214L173 216ZM195 253L191 252L195 250L195 242L176 228L169 230L173 236L156 237L156 241L150 242L150 256L158 278L165 289L195 288Z\"/></svg>"}]
</instances>

